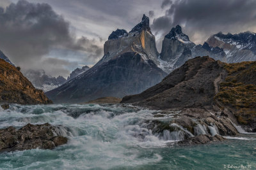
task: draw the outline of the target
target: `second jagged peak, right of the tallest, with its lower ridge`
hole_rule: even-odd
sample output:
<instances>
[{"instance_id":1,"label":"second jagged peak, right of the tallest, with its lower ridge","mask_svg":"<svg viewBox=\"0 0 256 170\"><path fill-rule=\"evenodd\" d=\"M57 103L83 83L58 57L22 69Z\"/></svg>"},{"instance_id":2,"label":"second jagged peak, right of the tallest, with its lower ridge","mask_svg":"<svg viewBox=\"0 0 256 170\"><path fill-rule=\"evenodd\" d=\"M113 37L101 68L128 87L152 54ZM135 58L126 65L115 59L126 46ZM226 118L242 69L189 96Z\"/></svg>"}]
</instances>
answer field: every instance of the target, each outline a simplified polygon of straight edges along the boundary
<instances>
[{"instance_id":1,"label":"second jagged peak, right of the tallest, with its lower ridge","mask_svg":"<svg viewBox=\"0 0 256 170\"><path fill-rule=\"evenodd\" d=\"M159 56L159 67L166 73L170 73L173 69L182 66L186 60L206 55L216 60L225 61L225 52L223 52L223 49L209 46L208 43L195 45L182 32L180 25L177 25L164 36L162 51Z\"/></svg>"}]
</instances>

